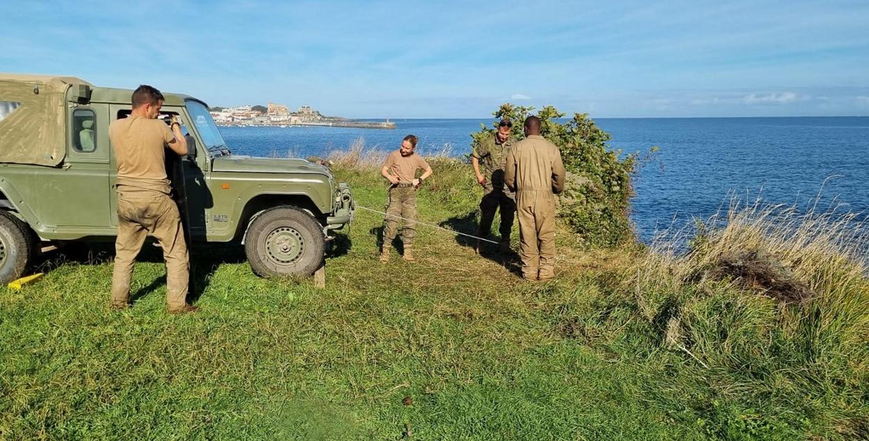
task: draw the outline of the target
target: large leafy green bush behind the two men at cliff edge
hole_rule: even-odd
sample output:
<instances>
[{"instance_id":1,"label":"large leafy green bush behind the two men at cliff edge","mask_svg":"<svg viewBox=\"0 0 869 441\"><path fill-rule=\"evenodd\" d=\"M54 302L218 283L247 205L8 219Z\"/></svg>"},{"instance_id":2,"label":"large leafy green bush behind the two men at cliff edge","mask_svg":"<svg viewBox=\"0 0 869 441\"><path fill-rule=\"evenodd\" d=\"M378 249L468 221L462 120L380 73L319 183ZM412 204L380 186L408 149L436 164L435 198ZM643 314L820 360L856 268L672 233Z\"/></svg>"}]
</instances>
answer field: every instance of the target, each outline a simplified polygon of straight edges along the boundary
<instances>
[{"instance_id":1,"label":"large leafy green bush behind the two men at cliff edge","mask_svg":"<svg viewBox=\"0 0 869 441\"><path fill-rule=\"evenodd\" d=\"M502 104L493 113L493 128L481 124L481 130L471 134L474 145L493 136L494 127L504 118L513 122L513 135L521 140L525 137L522 124L533 110ZM559 217L590 246L614 247L633 239L628 214L634 195L631 175L639 163L638 155L620 157L620 150L608 149L611 136L587 114L577 113L569 121L560 122L564 115L552 106L537 112L541 135L558 146L567 168L567 186L559 197Z\"/></svg>"}]
</instances>

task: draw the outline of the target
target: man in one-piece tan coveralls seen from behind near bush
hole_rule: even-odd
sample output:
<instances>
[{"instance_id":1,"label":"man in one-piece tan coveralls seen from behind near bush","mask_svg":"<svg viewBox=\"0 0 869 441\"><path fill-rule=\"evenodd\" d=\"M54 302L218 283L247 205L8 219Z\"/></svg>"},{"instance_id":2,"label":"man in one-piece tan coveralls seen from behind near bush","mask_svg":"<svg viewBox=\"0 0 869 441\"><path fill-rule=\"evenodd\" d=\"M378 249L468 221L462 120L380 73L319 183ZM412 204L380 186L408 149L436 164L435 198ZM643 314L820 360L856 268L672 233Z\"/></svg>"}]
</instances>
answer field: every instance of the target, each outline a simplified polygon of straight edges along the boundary
<instances>
[{"instance_id":1,"label":"man in one-piece tan coveralls seen from behind near bush","mask_svg":"<svg viewBox=\"0 0 869 441\"><path fill-rule=\"evenodd\" d=\"M525 135L504 168L504 182L516 192L522 277L549 280L555 275L555 194L564 190L567 173L561 152L541 136L541 120L528 116Z\"/></svg>"}]
</instances>

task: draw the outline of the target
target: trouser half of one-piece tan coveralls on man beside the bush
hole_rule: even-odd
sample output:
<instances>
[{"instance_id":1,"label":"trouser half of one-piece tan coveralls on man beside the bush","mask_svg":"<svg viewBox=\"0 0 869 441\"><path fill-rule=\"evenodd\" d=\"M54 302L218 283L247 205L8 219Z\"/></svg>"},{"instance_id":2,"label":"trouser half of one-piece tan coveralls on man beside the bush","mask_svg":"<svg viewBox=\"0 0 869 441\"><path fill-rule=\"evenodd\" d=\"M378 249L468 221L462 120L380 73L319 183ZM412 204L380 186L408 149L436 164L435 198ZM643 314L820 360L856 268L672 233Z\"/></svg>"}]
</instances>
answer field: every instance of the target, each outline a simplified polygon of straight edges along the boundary
<instances>
[{"instance_id":1,"label":"trouser half of one-piece tan coveralls on man beside the bush","mask_svg":"<svg viewBox=\"0 0 869 441\"><path fill-rule=\"evenodd\" d=\"M555 275L555 196L551 191L516 194L522 277L547 280Z\"/></svg>"}]
</instances>

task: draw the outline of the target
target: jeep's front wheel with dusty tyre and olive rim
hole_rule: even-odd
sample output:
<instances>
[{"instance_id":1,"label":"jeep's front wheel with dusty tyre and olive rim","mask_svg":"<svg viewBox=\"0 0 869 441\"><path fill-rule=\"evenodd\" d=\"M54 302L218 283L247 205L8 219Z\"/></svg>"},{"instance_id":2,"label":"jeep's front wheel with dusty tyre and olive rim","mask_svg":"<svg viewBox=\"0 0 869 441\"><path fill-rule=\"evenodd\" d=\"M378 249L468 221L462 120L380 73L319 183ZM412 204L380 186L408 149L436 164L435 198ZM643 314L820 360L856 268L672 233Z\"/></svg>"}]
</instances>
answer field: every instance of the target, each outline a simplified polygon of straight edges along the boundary
<instances>
[{"instance_id":1,"label":"jeep's front wheel with dusty tyre and olive rim","mask_svg":"<svg viewBox=\"0 0 869 441\"><path fill-rule=\"evenodd\" d=\"M289 206L269 208L250 222L244 253L262 277L309 276L323 264L322 226L313 216Z\"/></svg>"}]
</instances>

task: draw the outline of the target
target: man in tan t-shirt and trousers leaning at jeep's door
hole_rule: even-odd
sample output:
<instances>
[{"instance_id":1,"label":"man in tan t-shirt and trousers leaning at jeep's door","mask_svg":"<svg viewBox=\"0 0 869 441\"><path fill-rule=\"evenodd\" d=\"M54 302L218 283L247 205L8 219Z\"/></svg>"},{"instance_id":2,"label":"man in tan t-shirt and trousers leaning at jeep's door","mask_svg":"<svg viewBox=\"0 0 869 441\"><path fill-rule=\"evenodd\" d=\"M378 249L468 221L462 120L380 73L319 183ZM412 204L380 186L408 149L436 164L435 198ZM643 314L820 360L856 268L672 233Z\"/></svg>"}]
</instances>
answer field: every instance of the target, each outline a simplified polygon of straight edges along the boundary
<instances>
[{"instance_id":1,"label":"man in tan t-shirt and trousers leaning at jeep's door","mask_svg":"<svg viewBox=\"0 0 869 441\"><path fill-rule=\"evenodd\" d=\"M163 94L150 86L133 92L130 115L109 125L109 139L117 162L117 239L111 306L129 306L129 280L136 255L148 234L159 240L166 260L166 303L169 313L199 310L187 304L189 262L178 206L169 197L166 146L187 155L181 123L173 116L171 129L156 119Z\"/></svg>"}]
</instances>

